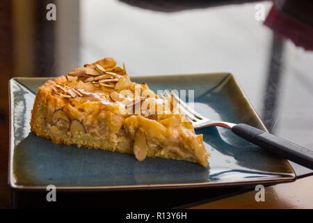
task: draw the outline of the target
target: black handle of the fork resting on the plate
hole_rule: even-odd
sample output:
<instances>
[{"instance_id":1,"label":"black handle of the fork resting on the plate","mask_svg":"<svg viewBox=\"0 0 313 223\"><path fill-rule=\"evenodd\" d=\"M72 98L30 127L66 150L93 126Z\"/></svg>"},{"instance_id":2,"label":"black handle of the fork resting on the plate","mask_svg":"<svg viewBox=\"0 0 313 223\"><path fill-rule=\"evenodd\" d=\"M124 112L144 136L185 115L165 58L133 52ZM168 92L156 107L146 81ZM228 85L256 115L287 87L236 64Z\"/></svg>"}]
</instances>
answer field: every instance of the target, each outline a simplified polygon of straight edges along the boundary
<instances>
[{"instance_id":1,"label":"black handle of the fork resting on the plate","mask_svg":"<svg viewBox=\"0 0 313 223\"><path fill-rule=\"evenodd\" d=\"M232 132L252 142L252 144L266 148L271 153L296 162L303 167L313 169L313 151L307 148L303 148L302 146L298 146L290 141L246 124L234 125Z\"/></svg>"}]
</instances>

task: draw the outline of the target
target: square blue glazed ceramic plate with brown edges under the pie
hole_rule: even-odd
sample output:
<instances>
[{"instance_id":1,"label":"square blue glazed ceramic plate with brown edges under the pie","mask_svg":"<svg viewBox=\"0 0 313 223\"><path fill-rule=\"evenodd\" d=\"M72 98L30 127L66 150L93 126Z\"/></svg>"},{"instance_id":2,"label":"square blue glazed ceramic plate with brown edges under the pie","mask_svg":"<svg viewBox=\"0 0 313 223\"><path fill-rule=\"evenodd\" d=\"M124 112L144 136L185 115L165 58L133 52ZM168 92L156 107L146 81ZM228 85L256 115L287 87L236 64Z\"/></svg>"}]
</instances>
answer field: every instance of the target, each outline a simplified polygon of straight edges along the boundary
<instances>
[{"instance_id":1,"label":"square blue glazed ceramic plate with brown edges under the pie","mask_svg":"<svg viewBox=\"0 0 313 223\"><path fill-rule=\"evenodd\" d=\"M275 157L223 128L197 130L211 153L209 167L177 160L53 144L30 133L35 92L48 78L10 80L9 183L15 189L118 190L168 187L219 187L273 184L295 180L287 160ZM229 73L133 77L153 90L192 89L195 109L211 119L248 123L262 121Z\"/></svg>"}]
</instances>

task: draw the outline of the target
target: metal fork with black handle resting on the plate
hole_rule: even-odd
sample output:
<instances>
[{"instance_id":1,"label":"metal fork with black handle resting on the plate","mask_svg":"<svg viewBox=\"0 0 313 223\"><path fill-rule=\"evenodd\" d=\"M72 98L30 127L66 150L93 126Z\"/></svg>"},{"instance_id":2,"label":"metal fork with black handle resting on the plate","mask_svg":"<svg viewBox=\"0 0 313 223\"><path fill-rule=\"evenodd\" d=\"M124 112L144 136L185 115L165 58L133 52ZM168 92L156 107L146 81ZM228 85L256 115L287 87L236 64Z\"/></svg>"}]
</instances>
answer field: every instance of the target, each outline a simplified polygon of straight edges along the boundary
<instances>
[{"instance_id":1,"label":"metal fork with black handle resting on the plate","mask_svg":"<svg viewBox=\"0 0 313 223\"><path fill-rule=\"evenodd\" d=\"M184 114L188 117L191 123L193 123L194 128L204 128L209 126L228 128L232 130L234 134L250 141L252 144L266 148L271 153L275 153L280 157L296 162L303 167L313 169L313 151L247 124L210 120L186 105L186 103L180 99L174 91L170 90L170 93L172 94L172 97L175 98L179 108L183 110ZM166 91L166 95L171 98L170 93Z\"/></svg>"}]
</instances>

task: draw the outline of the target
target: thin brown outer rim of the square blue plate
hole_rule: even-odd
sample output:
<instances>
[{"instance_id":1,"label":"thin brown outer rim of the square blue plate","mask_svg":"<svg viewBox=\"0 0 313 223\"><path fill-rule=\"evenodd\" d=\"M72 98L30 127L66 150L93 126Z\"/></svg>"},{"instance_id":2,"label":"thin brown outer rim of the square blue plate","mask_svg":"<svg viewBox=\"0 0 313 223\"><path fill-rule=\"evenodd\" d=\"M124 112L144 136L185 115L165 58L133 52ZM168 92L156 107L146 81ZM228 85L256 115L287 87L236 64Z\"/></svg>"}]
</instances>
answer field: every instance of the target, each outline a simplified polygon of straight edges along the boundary
<instances>
[{"instance_id":1,"label":"thin brown outer rim of the square blue plate","mask_svg":"<svg viewBox=\"0 0 313 223\"><path fill-rule=\"evenodd\" d=\"M159 78L159 77L175 77L175 76L191 76L191 75L198 75L198 76L210 76L210 75L225 75L226 78L231 78L234 80L236 86L238 86L241 95L243 96L244 100L248 102L248 105L253 112L253 115L257 118L257 121L259 124L262 125L264 130L268 131L262 122L261 118L259 118L259 115L255 111L255 108L252 106L250 100L246 96L246 93L244 93L243 89L241 88L239 82L236 80L234 75L230 72L202 72L202 73L189 73L189 74L170 74L170 75L134 75L131 77L134 78ZM46 190L46 187L44 186L25 186L25 185L17 185L15 183L15 179L13 176L13 153L15 150L15 145L13 143L13 121L12 121L12 115L13 115L13 105L12 100L13 96L11 91L11 82L15 81L18 82L18 79L55 79L56 77L13 77L9 80L8 83L8 91L9 91L9 109L10 109L10 115L9 115L9 159L8 159L8 185L13 190ZM223 79L224 80L224 79ZM19 82L18 82L19 83ZM20 83L19 83L20 84ZM276 178L264 178L259 180L239 180L239 181L223 181L223 182L205 182L205 183L170 183L170 184L147 184L147 185L110 185L110 186L57 186L57 190L66 190L66 191L89 191L89 190L153 190L153 189L179 189L179 188L200 188L200 187L235 187L235 186L241 186L241 185L257 185L257 184L264 184L264 185L273 185L275 183L288 183L296 180L296 174L294 172L294 169L291 167L291 164L287 161L287 165L289 166L289 169L291 169L292 173L290 176L284 176L284 177L276 177Z\"/></svg>"}]
</instances>

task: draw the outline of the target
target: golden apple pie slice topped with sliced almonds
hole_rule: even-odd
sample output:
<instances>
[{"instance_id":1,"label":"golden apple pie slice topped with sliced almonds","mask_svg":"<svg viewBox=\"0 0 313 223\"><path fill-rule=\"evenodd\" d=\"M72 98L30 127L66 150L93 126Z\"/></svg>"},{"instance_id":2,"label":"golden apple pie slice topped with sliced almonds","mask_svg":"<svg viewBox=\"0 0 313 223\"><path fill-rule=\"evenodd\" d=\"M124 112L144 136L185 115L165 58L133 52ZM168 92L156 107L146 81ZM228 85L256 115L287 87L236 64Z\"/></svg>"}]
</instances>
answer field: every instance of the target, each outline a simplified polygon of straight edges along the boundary
<instances>
[{"instance_id":1,"label":"golden apple pie slice topped with sliced almonds","mask_svg":"<svg viewBox=\"0 0 313 223\"><path fill-rule=\"evenodd\" d=\"M86 64L40 86L31 132L59 144L163 157L208 166L202 134L167 96L131 82L112 58Z\"/></svg>"}]
</instances>

